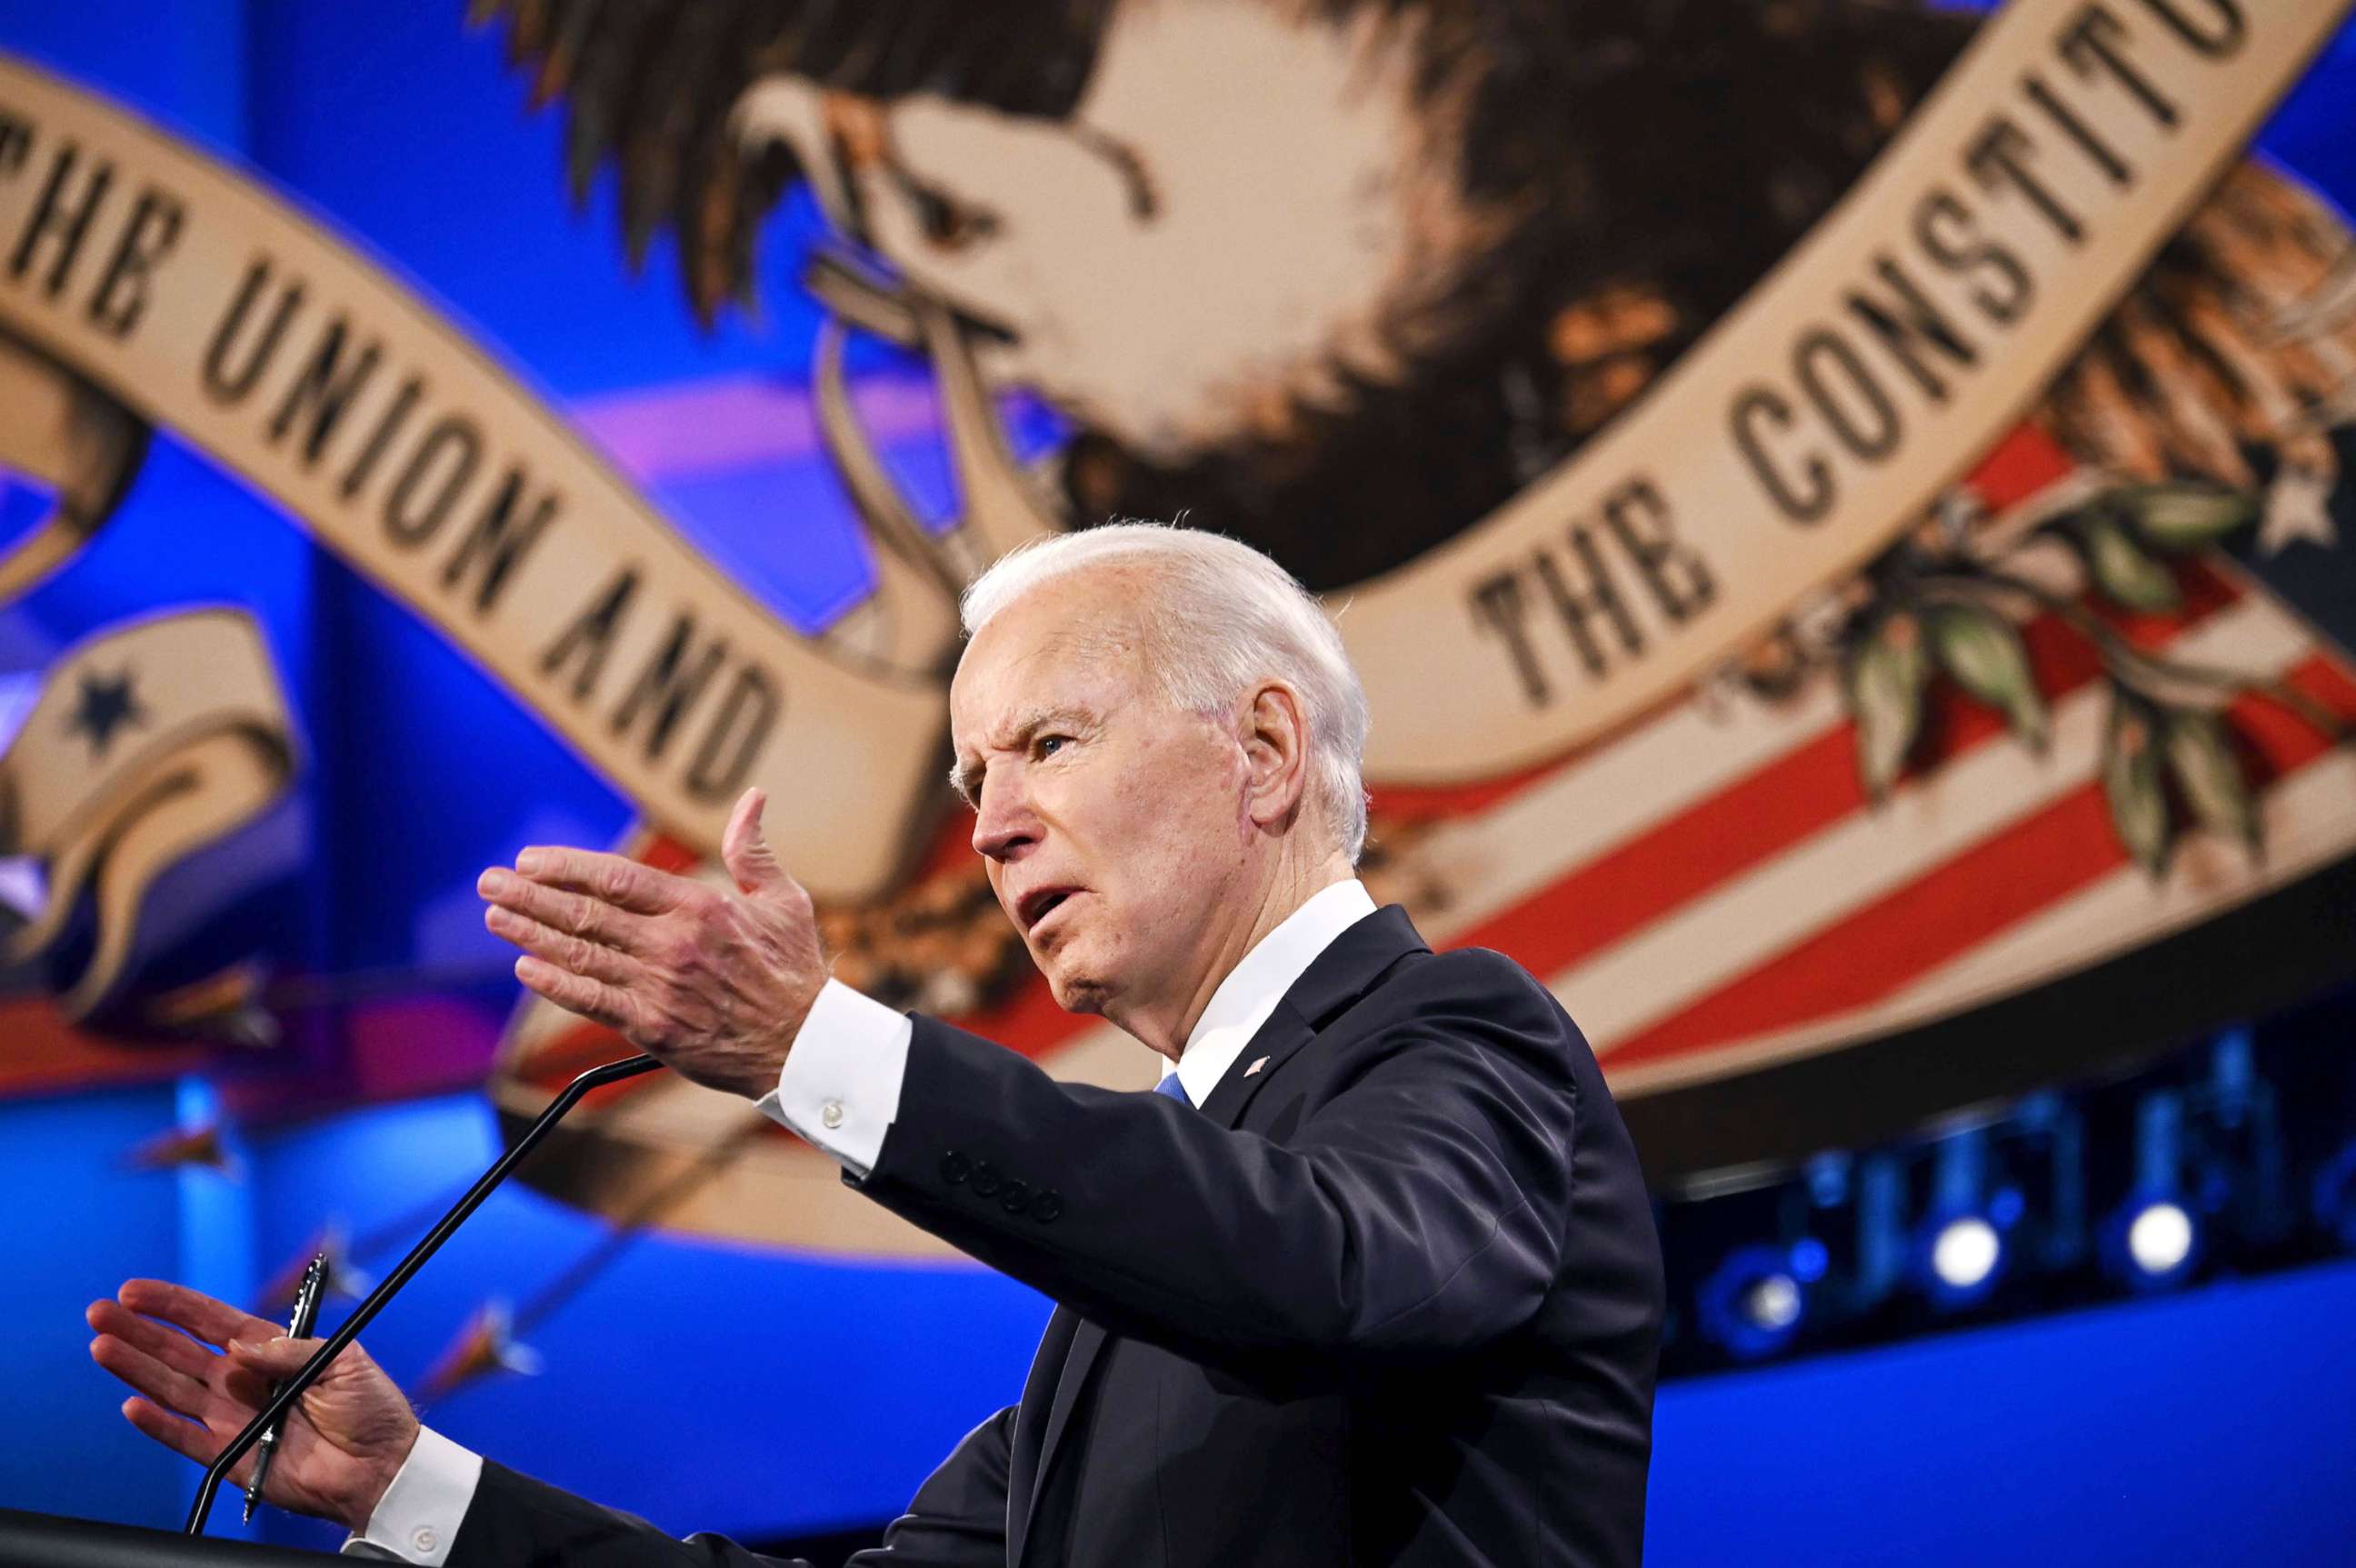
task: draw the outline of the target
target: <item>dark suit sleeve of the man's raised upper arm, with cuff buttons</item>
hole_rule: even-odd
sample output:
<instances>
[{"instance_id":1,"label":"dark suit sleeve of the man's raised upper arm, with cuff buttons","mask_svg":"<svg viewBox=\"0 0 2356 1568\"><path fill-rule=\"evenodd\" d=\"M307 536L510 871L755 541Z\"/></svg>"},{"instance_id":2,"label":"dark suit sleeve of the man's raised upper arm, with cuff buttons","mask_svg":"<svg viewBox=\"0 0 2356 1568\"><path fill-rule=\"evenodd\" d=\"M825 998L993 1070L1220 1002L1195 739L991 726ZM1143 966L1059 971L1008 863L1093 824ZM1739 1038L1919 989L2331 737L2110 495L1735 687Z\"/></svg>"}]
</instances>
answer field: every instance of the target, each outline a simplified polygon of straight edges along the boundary
<instances>
[{"instance_id":1,"label":"dark suit sleeve of the man's raised upper arm, with cuff buttons","mask_svg":"<svg viewBox=\"0 0 2356 1568\"><path fill-rule=\"evenodd\" d=\"M1282 1144L919 1017L860 1191L1084 1318L1239 1373L1480 1347L1555 1283L1586 1045L1496 954L1423 961L1378 996L1385 1022L1317 1064L1331 1083Z\"/></svg>"}]
</instances>

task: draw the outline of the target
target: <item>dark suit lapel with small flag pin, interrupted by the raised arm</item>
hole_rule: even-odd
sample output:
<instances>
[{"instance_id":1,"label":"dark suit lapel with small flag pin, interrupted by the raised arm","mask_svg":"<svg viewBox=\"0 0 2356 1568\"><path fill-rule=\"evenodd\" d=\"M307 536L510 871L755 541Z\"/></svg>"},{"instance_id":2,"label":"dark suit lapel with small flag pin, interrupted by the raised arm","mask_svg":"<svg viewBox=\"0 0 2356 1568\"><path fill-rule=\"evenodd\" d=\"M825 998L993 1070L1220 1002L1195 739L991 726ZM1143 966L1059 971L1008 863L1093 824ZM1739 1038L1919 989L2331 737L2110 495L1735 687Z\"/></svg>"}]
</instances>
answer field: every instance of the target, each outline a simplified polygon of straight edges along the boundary
<instances>
[{"instance_id":1,"label":"dark suit lapel with small flag pin, interrupted by the raised arm","mask_svg":"<svg viewBox=\"0 0 2356 1568\"><path fill-rule=\"evenodd\" d=\"M1251 1097L1277 1076L1284 1059L1317 1038L1333 1017L1374 989L1409 954L1428 954L1423 937L1397 904L1376 909L1371 916L1333 937L1326 951L1317 954L1293 989L1277 1001L1251 1045L1235 1059L1235 1067L1211 1090L1202 1114L1223 1128L1235 1128L1244 1118ZM1258 1062L1258 1069L1253 1069ZM1067 1347L1067 1349L1065 1349ZM1058 1349L1063 1351L1058 1358ZM1039 1340L1039 1356L1023 1387L1023 1410L1015 1417L1015 1455L1008 1464L1006 1486L1006 1561L1020 1563L1030 1544L1030 1528L1037 1519L1039 1495L1053 1474L1063 1436L1072 1424L1079 1401L1088 1394L1088 1380L1105 1354L1105 1330L1096 1323L1055 1309L1046 1335ZM1044 1380L1053 1377L1053 1396L1041 1398ZM1044 1406L1046 1424L1039 1429L1039 1448L1025 1441L1025 1424ZM1030 1462L1025 1464L1025 1457Z\"/></svg>"}]
</instances>

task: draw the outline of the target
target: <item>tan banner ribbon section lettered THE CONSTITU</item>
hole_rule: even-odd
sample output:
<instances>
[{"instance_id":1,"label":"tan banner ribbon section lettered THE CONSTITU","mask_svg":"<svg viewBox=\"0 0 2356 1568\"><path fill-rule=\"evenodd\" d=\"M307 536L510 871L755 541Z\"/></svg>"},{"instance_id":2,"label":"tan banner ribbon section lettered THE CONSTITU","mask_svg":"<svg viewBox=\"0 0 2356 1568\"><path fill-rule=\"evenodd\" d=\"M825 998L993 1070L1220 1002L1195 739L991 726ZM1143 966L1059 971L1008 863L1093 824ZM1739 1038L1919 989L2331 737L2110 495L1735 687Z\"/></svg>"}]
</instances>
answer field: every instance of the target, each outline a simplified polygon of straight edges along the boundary
<instances>
[{"instance_id":1,"label":"tan banner ribbon section lettered THE CONSTITU","mask_svg":"<svg viewBox=\"0 0 2356 1568\"><path fill-rule=\"evenodd\" d=\"M1369 775L1560 756L1873 558L2036 403L2347 9L2005 5L1635 410L1345 596L1376 699Z\"/></svg>"}]
</instances>

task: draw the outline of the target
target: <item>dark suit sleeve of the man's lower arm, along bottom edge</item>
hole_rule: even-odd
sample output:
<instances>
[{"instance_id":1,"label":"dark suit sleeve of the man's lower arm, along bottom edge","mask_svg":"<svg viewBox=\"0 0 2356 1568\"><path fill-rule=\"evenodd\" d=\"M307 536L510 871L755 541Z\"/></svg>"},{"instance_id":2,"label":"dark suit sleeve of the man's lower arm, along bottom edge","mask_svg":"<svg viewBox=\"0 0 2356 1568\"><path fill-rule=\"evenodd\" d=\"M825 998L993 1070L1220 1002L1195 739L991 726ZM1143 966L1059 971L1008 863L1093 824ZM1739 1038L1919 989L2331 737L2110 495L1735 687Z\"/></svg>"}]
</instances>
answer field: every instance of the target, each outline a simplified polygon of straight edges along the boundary
<instances>
[{"instance_id":1,"label":"dark suit sleeve of the man's lower arm, along bottom edge","mask_svg":"<svg viewBox=\"0 0 2356 1568\"><path fill-rule=\"evenodd\" d=\"M1013 1408L966 1434L916 1488L884 1544L848 1568L1006 1568L1006 1455ZM676 1540L648 1521L485 1462L450 1568L810 1568L721 1535Z\"/></svg>"}]
</instances>

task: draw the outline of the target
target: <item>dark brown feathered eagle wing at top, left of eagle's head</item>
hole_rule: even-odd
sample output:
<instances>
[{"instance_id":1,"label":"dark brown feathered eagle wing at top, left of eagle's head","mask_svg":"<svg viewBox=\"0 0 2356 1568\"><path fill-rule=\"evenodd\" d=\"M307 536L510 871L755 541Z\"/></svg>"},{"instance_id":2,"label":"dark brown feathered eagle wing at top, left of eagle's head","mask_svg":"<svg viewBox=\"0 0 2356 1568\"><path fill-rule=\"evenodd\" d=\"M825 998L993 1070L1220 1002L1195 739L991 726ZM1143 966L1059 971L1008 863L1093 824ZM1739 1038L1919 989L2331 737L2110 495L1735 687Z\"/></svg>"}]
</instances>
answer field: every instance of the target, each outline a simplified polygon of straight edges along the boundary
<instances>
[{"instance_id":1,"label":"dark brown feathered eagle wing at top, left of eagle's head","mask_svg":"<svg viewBox=\"0 0 2356 1568\"><path fill-rule=\"evenodd\" d=\"M679 238L697 318L749 304L761 219L801 179L777 141L744 146L744 92L792 75L869 99L931 92L1013 115L1072 113L1114 0L474 0L507 24L530 106L563 99L565 179L587 202L615 167L622 240L643 264Z\"/></svg>"}]
</instances>

